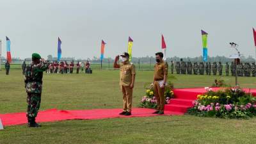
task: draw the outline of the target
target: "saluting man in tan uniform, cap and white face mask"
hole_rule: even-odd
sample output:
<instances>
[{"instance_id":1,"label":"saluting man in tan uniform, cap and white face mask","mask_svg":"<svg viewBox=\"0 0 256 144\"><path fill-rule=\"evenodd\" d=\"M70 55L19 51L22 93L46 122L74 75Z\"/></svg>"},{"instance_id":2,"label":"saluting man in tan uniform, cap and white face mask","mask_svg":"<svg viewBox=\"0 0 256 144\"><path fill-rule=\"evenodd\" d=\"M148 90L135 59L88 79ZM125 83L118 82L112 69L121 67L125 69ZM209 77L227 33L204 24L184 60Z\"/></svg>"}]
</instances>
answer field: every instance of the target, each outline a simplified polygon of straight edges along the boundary
<instances>
[{"instance_id":1,"label":"saluting man in tan uniform, cap and white face mask","mask_svg":"<svg viewBox=\"0 0 256 144\"><path fill-rule=\"evenodd\" d=\"M132 88L135 80L135 67L129 61L129 54L124 52L122 55L122 63L118 64L119 56L116 56L114 68L120 68L120 86L123 93L124 108L120 115L131 115L132 111Z\"/></svg>"}]
</instances>

